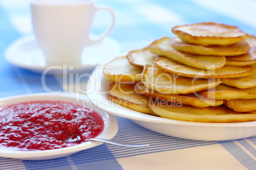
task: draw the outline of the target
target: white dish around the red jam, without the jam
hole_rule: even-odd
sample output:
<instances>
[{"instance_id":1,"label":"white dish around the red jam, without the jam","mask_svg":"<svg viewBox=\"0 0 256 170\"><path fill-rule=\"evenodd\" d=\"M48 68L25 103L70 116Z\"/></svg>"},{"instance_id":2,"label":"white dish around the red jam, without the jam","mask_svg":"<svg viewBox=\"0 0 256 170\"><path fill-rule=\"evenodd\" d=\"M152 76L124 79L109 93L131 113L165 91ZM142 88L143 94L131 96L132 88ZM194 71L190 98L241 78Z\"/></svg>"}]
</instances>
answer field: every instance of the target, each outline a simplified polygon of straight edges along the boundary
<instances>
[{"instance_id":1,"label":"white dish around the red jam, without the jam","mask_svg":"<svg viewBox=\"0 0 256 170\"><path fill-rule=\"evenodd\" d=\"M87 107L93 108L103 117L104 121L104 130L97 138L111 139L117 134L118 124L115 116L106 114L102 110L98 110L96 107L90 105L87 102L88 98L86 96L78 96L78 95L50 95L48 93L37 93L32 95L20 95L20 96L12 96L8 98L2 98L0 100L0 107L5 105L10 105L13 103L24 102L24 101L34 101L34 100L59 100L59 101L69 101L81 103ZM100 142L97 141L87 141L85 143L81 143L79 145L73 147L66 148L58 148L53 150L36 150L36 151L19 151L13 150L11 148L1 147L0 157L8 157L13 159L23 159L23 160L43 160L43 159L54 159L58 157L64 157L66 155L75 154L81 150L85 150L88 148L96 147L97 145L101 145Z\"/></svg>"}]
</instances>

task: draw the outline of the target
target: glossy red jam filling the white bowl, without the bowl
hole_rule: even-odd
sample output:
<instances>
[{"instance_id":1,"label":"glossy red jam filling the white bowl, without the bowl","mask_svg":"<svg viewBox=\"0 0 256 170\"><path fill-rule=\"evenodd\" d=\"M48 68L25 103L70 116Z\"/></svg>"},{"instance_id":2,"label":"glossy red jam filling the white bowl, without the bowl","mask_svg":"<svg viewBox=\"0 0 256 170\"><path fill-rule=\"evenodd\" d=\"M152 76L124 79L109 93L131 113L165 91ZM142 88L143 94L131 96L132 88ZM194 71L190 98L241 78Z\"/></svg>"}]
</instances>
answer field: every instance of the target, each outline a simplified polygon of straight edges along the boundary
<instances>
[{"instance_id":1,"label":"glossy red jam filling the white bowl, without the bowl","mask_svg":"<svg viewBox=\"0 0 256 170\"><path fill-rule=\"evenodd\" d=\"M31 101L0 108L0 146L36 150L71 147L104 129L92 108L66 101Z\"/></svg>"}]
</instances>

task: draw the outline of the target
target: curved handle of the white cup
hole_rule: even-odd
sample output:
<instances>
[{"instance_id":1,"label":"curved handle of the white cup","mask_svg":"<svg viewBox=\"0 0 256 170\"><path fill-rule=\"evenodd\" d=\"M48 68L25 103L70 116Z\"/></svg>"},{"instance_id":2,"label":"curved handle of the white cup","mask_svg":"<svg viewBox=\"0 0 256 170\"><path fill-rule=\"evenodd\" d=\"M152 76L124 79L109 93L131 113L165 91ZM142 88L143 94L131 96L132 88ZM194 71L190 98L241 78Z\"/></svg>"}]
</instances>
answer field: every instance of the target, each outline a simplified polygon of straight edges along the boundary
<instances>
[{"instance_id":1,"label":"curved handle of the white cup","mask_svg":"<svg viewBox=\"0 0 256 170\"><path fill-rule=\"evenodd\" d=\"M96 12L99 10L106 10L108 12L110 12L111 15L111 25L110 27L108 27L108 30L106 30L103 34L103 36L99 37L98 39L89 39L89 45L95 44L96 42L102 41L104 39L104 37L108 36L108 34L110 34L111 30L113 29L114 25L115 25L115 14L114 12L105 6L101 6L101 7L96 7Z\"/></svg>"}]
</instances>

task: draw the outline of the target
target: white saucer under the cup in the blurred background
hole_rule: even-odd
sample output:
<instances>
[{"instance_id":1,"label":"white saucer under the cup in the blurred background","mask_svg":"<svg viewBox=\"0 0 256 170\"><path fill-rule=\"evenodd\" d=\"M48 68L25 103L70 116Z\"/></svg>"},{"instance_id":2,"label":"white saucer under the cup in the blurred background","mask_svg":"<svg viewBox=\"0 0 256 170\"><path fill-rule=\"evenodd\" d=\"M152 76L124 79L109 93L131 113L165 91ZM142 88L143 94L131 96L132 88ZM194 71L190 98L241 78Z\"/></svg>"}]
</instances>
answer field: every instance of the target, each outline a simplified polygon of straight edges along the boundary
<instances>
[{"instance_id":1,"label":"white saucer under the cup in the blurred background","mask_svg":"<svg viewBox=\"0 0 256 170\"><path fill-rule=\"evenodd\" d=\"M11 64L32 72L45 74L70 74L90 72L96 65L115 58L120 51L119 44L106 37L103 41L85 48L82 54L82 62L76 65L48 65L45 62L43 53L38 48L38 44L33 36L22 37L13 42L5 53L5 58Z\"/></svg>"}]
</instances>

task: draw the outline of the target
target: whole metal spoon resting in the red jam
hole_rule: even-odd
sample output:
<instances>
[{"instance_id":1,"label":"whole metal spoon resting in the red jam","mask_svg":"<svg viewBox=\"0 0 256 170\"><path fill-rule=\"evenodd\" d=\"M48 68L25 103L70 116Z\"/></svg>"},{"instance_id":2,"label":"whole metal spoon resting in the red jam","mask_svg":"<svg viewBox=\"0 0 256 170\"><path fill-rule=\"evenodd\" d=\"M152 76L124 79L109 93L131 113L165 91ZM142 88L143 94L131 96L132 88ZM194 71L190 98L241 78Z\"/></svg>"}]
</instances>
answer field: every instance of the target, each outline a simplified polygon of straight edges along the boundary
<instances>
[{"instance_id":1,"label":"whole metal spoon resting in the red jam","mask_svg":"<svg viewBox=\"0 0 256 170\"><path fill-rule=\"evenodd\" d=\"M101 141L104 143L109 143L112 145L118 145L118 146L122 146L122 147L148 147L149 144L136 144L136 143L128 143L125 141L117 141L117 140L106 140L106 139L100 139L100 138L90 138L88 140L85 141ZM80 143L81 139L80 136L76 136L76 138L69 138L68 140L66 140L65 142L68 143Z\"/></svg>"}]
</instances>

